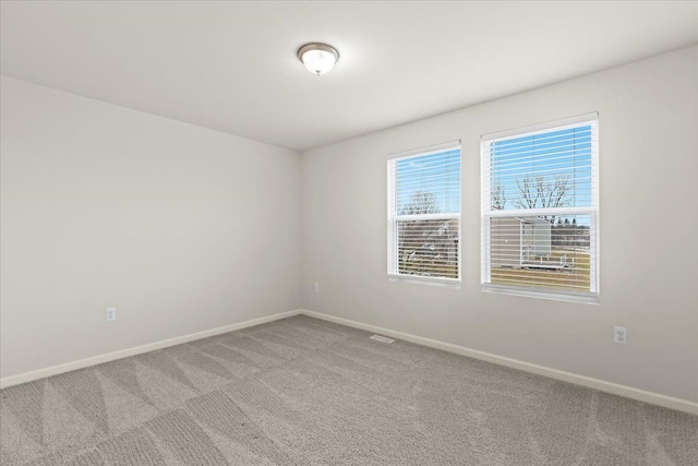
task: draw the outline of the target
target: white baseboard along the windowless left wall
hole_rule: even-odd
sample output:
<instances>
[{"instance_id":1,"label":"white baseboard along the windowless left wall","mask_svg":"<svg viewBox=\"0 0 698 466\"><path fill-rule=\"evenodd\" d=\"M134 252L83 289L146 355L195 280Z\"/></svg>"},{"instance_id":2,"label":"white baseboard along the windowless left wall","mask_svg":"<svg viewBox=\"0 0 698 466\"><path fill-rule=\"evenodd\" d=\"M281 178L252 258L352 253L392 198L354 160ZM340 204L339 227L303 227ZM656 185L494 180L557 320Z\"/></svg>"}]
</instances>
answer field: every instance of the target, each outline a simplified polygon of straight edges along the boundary
<instances>
[{"instance_id":1,"label":"white baseboard along the windowless left wall","mask_svg":"<svg viewBox=\"0 0 698 466\"><path fill-rule=\"evenodd\" d=\"M92 358L80 359L77 361L67 362L63 365L51 366L45 369L38 369L31 372L23 372L16 375L10 375L0 379L0 389L4 389L20 383L32 382L34 380L44 379L59 373L70 372L77 369L87 368L91 366L101 365L104 362L113 361L116 359L128 358L130 356L142 355L143 353L154 351L156 349L167 348L169 346L181 345L182 343L193 342L195 339L207 338L209 336L220 335L222 333L232 332L236 330L246 328L260 324L264 324L279 319L290 318L301 313L300 309L281 312L274 315L267 315L265 318L252 319L251 321L240 322L237 324L225 325L217 328L206 330L203 332L196 332L189 335L182 335L174 338L163 339L160 342L148 343L147 345L136 346L133 348L121 349L119 351L107 353L105 355L94 356Z\"/></svg>"}]
</instances>

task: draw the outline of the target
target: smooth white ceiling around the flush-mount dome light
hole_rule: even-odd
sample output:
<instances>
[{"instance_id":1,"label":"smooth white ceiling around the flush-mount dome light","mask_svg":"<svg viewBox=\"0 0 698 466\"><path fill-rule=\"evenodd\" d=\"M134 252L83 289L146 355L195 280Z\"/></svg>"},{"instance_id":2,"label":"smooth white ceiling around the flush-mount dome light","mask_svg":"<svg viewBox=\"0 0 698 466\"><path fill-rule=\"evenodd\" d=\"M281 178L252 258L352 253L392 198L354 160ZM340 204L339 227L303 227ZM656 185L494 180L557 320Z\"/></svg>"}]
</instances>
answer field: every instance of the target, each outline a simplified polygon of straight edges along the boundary
<instances>
[{"instance_id":1,"label":"smooth white ceiling around the flush-mount dome light","mask_svg":"<svg viewBox=\"0 0 698 466\"><path fill-rule=\"evenodd\" d=\"M306 150L698 43L698 2L7 2L9 76ZM314 76L296 57L326 41Z\"/></svg>"}]
</instances>

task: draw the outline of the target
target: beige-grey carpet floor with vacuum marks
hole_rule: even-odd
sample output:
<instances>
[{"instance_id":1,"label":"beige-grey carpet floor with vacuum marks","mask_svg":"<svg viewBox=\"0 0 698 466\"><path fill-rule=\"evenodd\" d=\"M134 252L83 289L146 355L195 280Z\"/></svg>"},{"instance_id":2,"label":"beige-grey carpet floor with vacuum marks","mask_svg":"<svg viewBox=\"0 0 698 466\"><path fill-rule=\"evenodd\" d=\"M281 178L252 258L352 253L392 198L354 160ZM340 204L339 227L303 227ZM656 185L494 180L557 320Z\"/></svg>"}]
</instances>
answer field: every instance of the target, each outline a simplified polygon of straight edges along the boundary
<instances>
[{"instance_id":1,"label":"beige-grey carpet floor with vacuum marks","mask_svg":"<svg viewBox=\"0 0 698 466\"><path fill-rule=\"evenodd\" d=\"M698 417L308 316L2 390L0 463L698 465Z\"/></svg>"}]
</instances>

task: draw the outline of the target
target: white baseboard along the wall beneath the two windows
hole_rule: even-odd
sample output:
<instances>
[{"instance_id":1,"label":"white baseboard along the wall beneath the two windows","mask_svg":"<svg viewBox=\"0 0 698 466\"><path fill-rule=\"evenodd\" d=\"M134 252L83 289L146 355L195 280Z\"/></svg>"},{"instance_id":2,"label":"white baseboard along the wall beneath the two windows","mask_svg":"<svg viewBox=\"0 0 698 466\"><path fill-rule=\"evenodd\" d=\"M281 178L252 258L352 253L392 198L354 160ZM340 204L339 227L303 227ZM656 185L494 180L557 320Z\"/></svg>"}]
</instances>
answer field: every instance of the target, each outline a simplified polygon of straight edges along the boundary
<instances>
[{"instance_id":1,"label":"white baseboard along the wall beneath the two windows","mask_svg":"<svg viewBox=\"0 0 698 466\"><path fill-rule=\"evenodd\" d=\"M458 346L458 345L452 345L450 343L437 342L435 339L424 338L422 336L411 335L402 332L396 332L389 328L369 325L361 322L351 321L348 319L336 318L334 315L323 314L321 312L315 312L315 311L309 311L306 309L301 309L300 313L309 315L311 318L323 319L325 321L338 323L341 325L347 325L354 328L361 328L361 330L377 333L381 335L389 336L390 338L402 339L405 342L410 342L410 343L417 343L418 345L429 346L436 349L443 349L444 351L455 353L458 355L468 356L470 358L493 362L495 365L506 366L508 368L522 370L525 372L531 372L538 375L544 375L551 379L587 386L589 389L612 393L614 395L624 396L626 398L637 399L639 402L650 403L652 405L664 406L666 408L698 415L698 403L689 402L687 399L681 399L672 396L661 395L654 392L648 392L640 389L634 389L627 385L621 385L618 383L606 382L600 379L593 379L586 375L579 375L571 372L565 372L557 369L546 368L544 366L538 366L538 365L521 361L518 359L506 358L503 356L493 355L491 353L470 349L470 348L466 348L464 346Z\"/></svg>"}]
</instances>

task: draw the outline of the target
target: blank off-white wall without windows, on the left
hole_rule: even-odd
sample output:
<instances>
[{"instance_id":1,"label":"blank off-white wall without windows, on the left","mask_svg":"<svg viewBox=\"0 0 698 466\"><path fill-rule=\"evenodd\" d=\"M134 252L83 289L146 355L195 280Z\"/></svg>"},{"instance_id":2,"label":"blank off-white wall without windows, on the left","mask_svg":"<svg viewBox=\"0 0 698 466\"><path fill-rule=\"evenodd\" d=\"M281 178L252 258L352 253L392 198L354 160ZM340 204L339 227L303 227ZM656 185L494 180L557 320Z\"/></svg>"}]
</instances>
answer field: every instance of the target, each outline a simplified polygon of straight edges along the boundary
<instances>
[{"instance_id":1,"label":"blank off-white wall without windows, on the left","mask_svg":"<svg viewBox=\"0 0 698 466\"><path fill-rule=\"evenodd\" d=\"M299 307L299 154L1 86L3 378Z\"/></svg>"}]
</instances>

